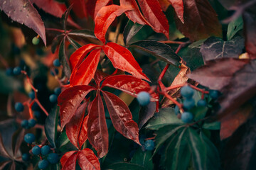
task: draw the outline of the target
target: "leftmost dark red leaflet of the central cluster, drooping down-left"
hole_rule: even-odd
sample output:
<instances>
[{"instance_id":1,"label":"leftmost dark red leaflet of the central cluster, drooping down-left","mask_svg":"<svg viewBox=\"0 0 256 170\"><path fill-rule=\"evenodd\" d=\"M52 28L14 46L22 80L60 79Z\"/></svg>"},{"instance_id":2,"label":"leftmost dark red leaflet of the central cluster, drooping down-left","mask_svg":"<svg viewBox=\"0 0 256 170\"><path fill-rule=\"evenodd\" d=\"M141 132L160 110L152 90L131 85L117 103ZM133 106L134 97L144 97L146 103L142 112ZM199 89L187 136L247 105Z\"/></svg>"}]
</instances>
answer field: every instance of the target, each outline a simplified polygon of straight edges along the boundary
<instances>
[{"instance_id":1,"label":"leftmost dark red leaflet of the central cluster, drooping down-left","mask_svg":"<svg viewBox=\"0 0 256 170\"><path fill-rule=\"evenodd\" d=\"M82 100L92 90L95 90L92 86L73 86L58 96L61 129L70 121Z\"/></svg>"}]
</instances>

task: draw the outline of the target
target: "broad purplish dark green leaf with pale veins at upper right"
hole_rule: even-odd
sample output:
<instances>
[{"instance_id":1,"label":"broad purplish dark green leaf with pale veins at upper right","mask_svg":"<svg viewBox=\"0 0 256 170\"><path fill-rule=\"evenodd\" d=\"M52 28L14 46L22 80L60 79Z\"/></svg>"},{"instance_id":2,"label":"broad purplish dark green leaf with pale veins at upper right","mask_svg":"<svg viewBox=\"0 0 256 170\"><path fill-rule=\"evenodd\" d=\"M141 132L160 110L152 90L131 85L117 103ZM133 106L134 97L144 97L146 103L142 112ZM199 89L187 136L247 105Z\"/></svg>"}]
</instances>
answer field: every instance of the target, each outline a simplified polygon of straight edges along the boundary
<instances>
[{"instance_id":1,"label":"broad purplish dark green leaf with pale veins at upper right","mask_svg":"<svg viewBox=\"0 0 256 170\"><path fill-rule=\"evenodd\" d=\"M244 38L240 36L236 36L228 41L211 37L203 42L200 52L203 55L203 61L205 63L218 58L238 58L245 46L244 43Z\"/></svg>"}]
</instances>

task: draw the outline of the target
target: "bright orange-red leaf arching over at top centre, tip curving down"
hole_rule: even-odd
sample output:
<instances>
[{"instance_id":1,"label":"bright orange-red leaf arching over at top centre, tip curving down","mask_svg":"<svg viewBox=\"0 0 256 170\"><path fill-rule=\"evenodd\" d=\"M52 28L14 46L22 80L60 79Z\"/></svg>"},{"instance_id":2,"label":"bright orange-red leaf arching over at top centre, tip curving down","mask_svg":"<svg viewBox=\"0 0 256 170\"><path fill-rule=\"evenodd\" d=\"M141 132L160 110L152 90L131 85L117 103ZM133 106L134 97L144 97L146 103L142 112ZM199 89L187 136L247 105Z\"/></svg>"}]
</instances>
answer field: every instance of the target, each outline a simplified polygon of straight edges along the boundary
<instances>
[{"instance_id":1,"label":"bright orange-red leaf arching over at top centre, tip curving down","mask_svg":"<svg viewBox=\"0 0 256 170\"><path fill-rule=\"evenodd\" d=\"M95 36L105 44L107 29L117 16L127 11L124 6L110 5L100 9L95 17Z\"/></svg>"}]
</instances>

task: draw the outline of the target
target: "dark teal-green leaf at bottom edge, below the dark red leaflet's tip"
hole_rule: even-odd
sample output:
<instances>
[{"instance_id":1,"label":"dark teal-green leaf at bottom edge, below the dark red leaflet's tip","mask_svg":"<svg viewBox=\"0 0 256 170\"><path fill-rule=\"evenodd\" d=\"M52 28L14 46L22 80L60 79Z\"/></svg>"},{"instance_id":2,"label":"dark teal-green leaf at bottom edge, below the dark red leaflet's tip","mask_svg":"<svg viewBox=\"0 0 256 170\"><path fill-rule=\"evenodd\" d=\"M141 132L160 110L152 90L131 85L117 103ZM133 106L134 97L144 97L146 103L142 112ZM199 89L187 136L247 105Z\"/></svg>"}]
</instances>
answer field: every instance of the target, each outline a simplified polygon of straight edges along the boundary
<instances>
[{"instance_id":1,"label":"dark teal-green leaf at bottom edge, below the dark red leaflet's tip","mask_svg":"<svg viewBox=\"0 0 256 170\"><path fill-rule=\"evenodd\" d=\"M144 169L151 170L154 168L151 157L151 151L143 152L142 148L139 147L139 149L137 149L134 156L132 157L131 163L141 165L144 167Z\"/></svg>"}]
</instances>

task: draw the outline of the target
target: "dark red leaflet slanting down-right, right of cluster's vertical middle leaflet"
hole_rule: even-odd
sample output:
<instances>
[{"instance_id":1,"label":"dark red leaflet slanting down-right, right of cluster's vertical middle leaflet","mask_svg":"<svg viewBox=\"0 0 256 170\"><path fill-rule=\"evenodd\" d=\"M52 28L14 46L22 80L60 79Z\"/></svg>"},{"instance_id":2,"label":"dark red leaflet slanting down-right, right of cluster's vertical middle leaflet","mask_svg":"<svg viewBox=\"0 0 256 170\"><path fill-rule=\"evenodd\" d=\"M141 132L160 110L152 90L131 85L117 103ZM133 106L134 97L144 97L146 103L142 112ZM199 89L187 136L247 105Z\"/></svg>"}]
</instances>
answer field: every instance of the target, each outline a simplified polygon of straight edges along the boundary
<instances>
[{"instance_id":1,"label":"dark red leaflet slanting down-right, right of cluster's vertical middle leaflet","mask_svg":"<svg viewBox=\"0 0 256 170\"><path fill-rule=\"evenodd\" d=\"M127 104L110 92L102 91L102 94L114 128L124 137L134 140L140 145L139 128L137 123L132 120L132 113L129 111Z\"/></svg>"}]
</instances>

